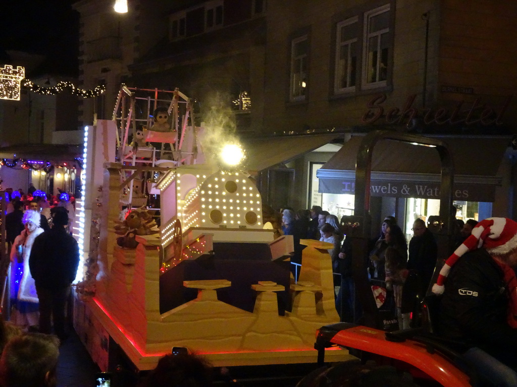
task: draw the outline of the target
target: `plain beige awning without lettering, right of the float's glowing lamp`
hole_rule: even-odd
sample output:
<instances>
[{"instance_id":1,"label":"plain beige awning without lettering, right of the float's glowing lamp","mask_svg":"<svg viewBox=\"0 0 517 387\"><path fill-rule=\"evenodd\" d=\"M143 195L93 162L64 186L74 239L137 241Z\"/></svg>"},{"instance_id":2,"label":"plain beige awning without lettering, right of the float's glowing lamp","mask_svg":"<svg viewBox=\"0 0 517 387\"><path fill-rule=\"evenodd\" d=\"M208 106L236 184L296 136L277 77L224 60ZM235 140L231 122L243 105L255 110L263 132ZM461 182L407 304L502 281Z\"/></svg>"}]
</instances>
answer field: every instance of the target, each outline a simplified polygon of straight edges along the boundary
<instances>
[{"instance_id":1,"label":"plain beige awning without lettering, right of the float's glowing lamp","mask_svg":"<svg viewBox=\"0 0 517 387\"><path fill-rule=\"evenodd\" d=\"M317 148L343 138L342 134L247 138L242 140L246 149L246 169L250 173L288 163Z\"/></svg>"}]
</instances>

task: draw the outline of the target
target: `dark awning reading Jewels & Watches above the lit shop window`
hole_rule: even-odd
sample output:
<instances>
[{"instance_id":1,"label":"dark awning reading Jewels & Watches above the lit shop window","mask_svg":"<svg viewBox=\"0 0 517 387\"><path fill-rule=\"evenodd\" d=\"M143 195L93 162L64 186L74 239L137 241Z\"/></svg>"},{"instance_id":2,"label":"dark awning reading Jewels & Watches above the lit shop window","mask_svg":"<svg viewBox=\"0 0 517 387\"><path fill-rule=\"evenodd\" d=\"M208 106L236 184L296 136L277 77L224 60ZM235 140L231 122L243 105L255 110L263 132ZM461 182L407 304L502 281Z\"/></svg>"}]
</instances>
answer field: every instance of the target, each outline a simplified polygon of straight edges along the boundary
<instances>
[{"instance_id":1,"label":"dark awning reading Jewels & Watches above the lit shop window","mask_svg":"<svg viewBox=\"0 0 517 387\"><path fill-rule=\"evenodd\" d=\"M355 193L355 163L362 136L352 137L316 173L324 193ZM440 137L454 160L454 200L493 202L502 184L497 170L508 137ZM434 148L383 140L373 150L371 195L439 199L440 159Z\"/></svg>"}]
</instances>

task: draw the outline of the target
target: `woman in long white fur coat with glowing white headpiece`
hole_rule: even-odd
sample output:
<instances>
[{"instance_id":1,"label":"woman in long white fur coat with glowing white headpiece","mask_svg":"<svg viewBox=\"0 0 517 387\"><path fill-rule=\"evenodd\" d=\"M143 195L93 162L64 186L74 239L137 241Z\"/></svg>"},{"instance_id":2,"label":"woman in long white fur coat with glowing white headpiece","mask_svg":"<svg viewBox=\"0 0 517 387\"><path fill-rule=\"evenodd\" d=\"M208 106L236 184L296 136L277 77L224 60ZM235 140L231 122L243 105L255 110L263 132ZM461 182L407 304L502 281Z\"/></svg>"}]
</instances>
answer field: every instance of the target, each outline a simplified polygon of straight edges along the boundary
<instances>
[{"instance_id":1,"label":"woman in long white fur coat with glowing white headpiece","mask_svg":"<svg viewBox=\"0 0 517 387\"><path fill-rule=\"evenodd\" d=\"M22 327L36 328L39 319L38 295L34 279L29 270L29 256L34 239L43 232L40 227L39 211L28 209L23 214L22 223L25 229L14 239L11 248L11 321Z\"/></svg>"}]
</instances>

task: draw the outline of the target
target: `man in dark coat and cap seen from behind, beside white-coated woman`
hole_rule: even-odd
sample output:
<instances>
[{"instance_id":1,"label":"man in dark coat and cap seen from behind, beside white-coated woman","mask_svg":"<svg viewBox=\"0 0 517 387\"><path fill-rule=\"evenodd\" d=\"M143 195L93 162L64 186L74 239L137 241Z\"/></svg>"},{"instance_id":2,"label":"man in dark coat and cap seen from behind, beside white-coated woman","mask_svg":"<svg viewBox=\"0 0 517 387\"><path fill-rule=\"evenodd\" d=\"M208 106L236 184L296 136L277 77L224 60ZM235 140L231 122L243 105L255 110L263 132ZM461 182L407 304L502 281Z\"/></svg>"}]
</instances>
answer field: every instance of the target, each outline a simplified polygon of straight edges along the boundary
<instances>
[{"instance_id":1,"label":"man in dark coat and cap seen from behind, beside white-coated woman","mask_svg":"<svg viewBox=\"0 0 517 387\"><path fill-rule=\"evenodd\" d=\"M54 333L64 340L65 307L79 266L79 245L65 230L68 212L64 207L52 209L52 222L52 229L34 240L29 267L39 298L39 330L50 334L52 318Z\"/></svg>"}]
</instances>

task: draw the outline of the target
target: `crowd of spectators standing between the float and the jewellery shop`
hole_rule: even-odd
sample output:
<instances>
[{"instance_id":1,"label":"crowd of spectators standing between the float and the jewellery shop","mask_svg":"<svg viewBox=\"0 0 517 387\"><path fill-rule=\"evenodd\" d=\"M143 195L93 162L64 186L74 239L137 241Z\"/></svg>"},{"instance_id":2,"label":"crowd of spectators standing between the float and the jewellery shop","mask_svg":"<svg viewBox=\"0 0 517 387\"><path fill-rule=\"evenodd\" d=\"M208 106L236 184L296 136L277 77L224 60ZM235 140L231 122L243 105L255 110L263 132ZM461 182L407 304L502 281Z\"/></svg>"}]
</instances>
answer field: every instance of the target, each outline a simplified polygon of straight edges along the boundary
<instances>
[{"instance_id":1,"label":"crowd of spectators standing between the float and the jewellery shop","mask_svg":"<svg viewBox=\"0 0 517 387\"><path fill-rule=\"evenodd\" d=\"M266 214L266 212L265 212ZM339 286L336 295L336 309L342 321L358 322L361 315L355 297L352 278L352 248L346 235L352 230L352 217L336 215L324 211L321 206L310 210L285 207L276 212L269 207L264 221L275 219L273 228L276 236L293 235L294 255L292 262L302 264L304 245L300 239L316 239L333 245L328 249L332 259L334 285ZM275 215L276 214L276 215ZM275 218L276 216L276 218ZM397 219L386 216L381 230L368 246L367 277L372 284L387 289L387 297L393 299L393 313L398 317L399 327L409 327L409 315L415 303L410 299L422 299L428 292L437 261L436 235L442 228L437 216L428 217L428 222L417 218L412 227L413 237L406 240ZM454 240L461 244L470 235L477 221L469 219L463 224L454 223ZM296 271L299 273L299 270ZM293 270L293 274L294 274ZM403 293L408 276L412 279L409 291ZM405 294L406 300L403 300Z\"/></svg>"}]
</instances>

